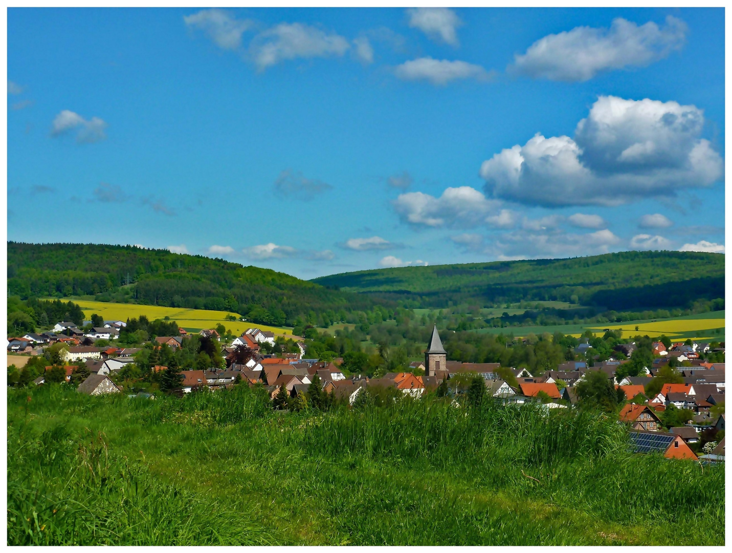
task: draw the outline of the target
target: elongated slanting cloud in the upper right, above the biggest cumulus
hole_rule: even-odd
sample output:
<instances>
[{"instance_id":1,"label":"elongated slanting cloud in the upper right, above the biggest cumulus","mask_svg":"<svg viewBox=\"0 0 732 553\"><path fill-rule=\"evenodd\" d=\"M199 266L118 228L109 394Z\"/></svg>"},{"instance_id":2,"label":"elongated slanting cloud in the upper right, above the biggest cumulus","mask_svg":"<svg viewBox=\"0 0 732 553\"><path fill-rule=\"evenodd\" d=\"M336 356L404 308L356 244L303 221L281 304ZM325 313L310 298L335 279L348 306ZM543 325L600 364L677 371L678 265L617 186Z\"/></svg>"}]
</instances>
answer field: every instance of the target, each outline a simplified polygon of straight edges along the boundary
<instances>
[{"instance_id":1,"label":"elongated slanting cloud in the upper right, above the biggest cumulus","mask_svg":"<svg viewBox=\"0 0 732 553\"><path fill-rule=\"evenodd\" d=\"M509 71L552 81L587 81L601 71L646 67L684 45L686 23L669 15L666 25L638 26L622 18L610 29L575 27L534 42L515 56Z\"/></svg>"}]
</instances>

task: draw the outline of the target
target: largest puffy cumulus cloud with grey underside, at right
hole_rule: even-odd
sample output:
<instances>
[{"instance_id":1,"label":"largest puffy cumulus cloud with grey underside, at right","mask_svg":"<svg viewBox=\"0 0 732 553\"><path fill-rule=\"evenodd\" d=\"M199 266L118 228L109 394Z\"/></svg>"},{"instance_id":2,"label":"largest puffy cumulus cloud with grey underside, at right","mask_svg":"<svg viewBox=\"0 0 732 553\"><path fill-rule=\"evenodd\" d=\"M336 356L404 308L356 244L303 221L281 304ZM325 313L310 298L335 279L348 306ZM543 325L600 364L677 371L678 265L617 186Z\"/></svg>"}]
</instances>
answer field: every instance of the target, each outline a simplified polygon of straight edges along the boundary
<instances>
[{"instance_id":1,"label":"largest puffy cumulus cloud with grey underside, at right","mask_svg":"<svg viewBox=\"0 0 732 553\"><path fill-rule=\"evenodd\" d=\"M575 138L537 133L482 163L485 190L523 204L619 205L722 178L722 157L699 138L694 105L601 96Z\"/></svg>"}]
</instances>

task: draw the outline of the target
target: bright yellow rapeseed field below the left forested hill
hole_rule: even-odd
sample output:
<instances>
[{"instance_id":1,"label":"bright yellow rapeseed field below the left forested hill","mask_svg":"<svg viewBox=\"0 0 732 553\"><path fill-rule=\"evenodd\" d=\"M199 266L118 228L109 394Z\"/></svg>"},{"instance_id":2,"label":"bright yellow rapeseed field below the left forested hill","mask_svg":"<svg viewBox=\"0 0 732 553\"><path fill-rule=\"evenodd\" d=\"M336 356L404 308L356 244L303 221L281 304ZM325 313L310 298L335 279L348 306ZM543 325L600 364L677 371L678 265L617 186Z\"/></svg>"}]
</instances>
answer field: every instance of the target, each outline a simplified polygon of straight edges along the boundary
<instances>
[{"instance_id":1,"label":"bright yellow rapeseed field below the left forested hill","mask_svg":"<svg viewBox=\"0 0 732 553\"><path fill-rule=\"evenodd\" d=\"M89 320L91 313L101 315L105 321L119 320L126 321L128 318L146 316L151 321L154 319L165 319L170 317L171 321L178 323L180 327L191 330L203 328L215 328L217 324L223 324L234 334L241 334L247 328L260 328L269 330L277 335L292 335L292 330L279 327L268 327L266 324L254 324L251 322L227 321L227 315L234 315L241 318L238 313L227 313L225 311L209 311L206 309L185 309L176 307L160 307L159 305L138 305L134 303L108 303L91 302L86 300L74 300L81 305L86 319Z\"/></svg>"}]
</instances>

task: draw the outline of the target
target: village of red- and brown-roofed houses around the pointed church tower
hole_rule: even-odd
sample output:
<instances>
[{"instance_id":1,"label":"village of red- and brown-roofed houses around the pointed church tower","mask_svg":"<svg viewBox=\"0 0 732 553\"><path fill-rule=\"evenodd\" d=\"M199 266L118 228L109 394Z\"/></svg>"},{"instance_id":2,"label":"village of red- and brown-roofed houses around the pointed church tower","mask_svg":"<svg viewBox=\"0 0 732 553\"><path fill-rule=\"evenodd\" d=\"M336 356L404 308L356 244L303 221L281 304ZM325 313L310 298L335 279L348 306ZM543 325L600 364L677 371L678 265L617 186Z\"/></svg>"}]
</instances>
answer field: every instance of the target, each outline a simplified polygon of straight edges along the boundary
<instances>
[{"instance_id":1,"label":"village of red- and brown-roofed houses around the pointed church tower","mask_svg":"<svg viewBox=\"0 0 732 553\"><path fill-rule=\"evenodd\" d=\"M134 366L135 355L141 352L141 347L113 345L126 326L124 321L105 321L101 326L90 327L89 322L86 330L81 330L73 322L58 322L46 333L9 338L7 351L34 356L42 355L54 344L63 345L59 349L61 363L46 366L45 374L34 379L34 385L75 381L78 392L92 396L128 393L130 397L154 398L153 393L129 393L121 385L125 368ZM152 348L175 351L182 347L188 334L179 328L179 335L154 337ZM616 376L627 359L613 357L594 366L588 366L586 361L570 360L531 374L526 368L509 368L507 372L500 363L447 360L435 326L423 362L413 361L405 371L369 377L344 371L342 357L329 361L305 358L304 339L294 342L296 352L267 353L275 346L275 334L258 328L250 328L223 344L217 330L201 330L198 335L220 347L225 367L179 371L178 385L168 390L173 394L215 391L244 383L264 387L275 408L299 410L307 405L308 396L313 395L313 385L319 388L321 397L354 406L359 396L365 401L367 396L384 393L413 398L425 393L462 396L470 393L471 385L479 379L485 386L481 396L504 404L533 403L548 411L578 408L581 403L578 391L583 382L591 375L602 374L623 398L617 417L619 423L628 426L638 453L656 452L668 458L704 462L725 459L725 363L708 363L700 358L700 354L709 352L709 343L686 341L671 344L667 349L662 342L654 342L653 363L644 367L644 374L639 376ZM109 345L94 345L98 341ZM622 355L618 357L630 357L634 348L633 343L621 344ZM716 350L723 354L724 344L718 344ZM591 353L591 346L586 342L575 348L578 357L588 358L588 352ZM660 390L649 391L653 389L649 383L664 368L668 372L670 365L676 372L676 382L666 382ZM152 367L156 373L164 373L166 369L165 365ZM54 370L55 377L51 376ZM667 411L688 418L668 423Z\"/></svg>"}]
</instances>

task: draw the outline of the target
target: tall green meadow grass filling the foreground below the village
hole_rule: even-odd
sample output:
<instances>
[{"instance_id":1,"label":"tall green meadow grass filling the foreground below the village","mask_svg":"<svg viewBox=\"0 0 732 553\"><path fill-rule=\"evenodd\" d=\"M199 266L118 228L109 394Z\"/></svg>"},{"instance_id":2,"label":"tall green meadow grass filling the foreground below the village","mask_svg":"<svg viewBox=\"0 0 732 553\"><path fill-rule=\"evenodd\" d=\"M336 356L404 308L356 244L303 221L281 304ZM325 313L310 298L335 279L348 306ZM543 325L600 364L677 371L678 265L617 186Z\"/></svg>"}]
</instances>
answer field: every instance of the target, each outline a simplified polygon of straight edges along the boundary
<instances>
[{"instance_id":1,"label":"tall green meadow grass filling the foreground below the village","mask_svg":"<svg viewBox=\"0 0 732 553\"><path fill-rule=\"evenodd\" d=\"M630 455L602 417L53 385L10 390L8 419L10 544L724 543L723 467Z\"/></svg>"}]
</instances>

